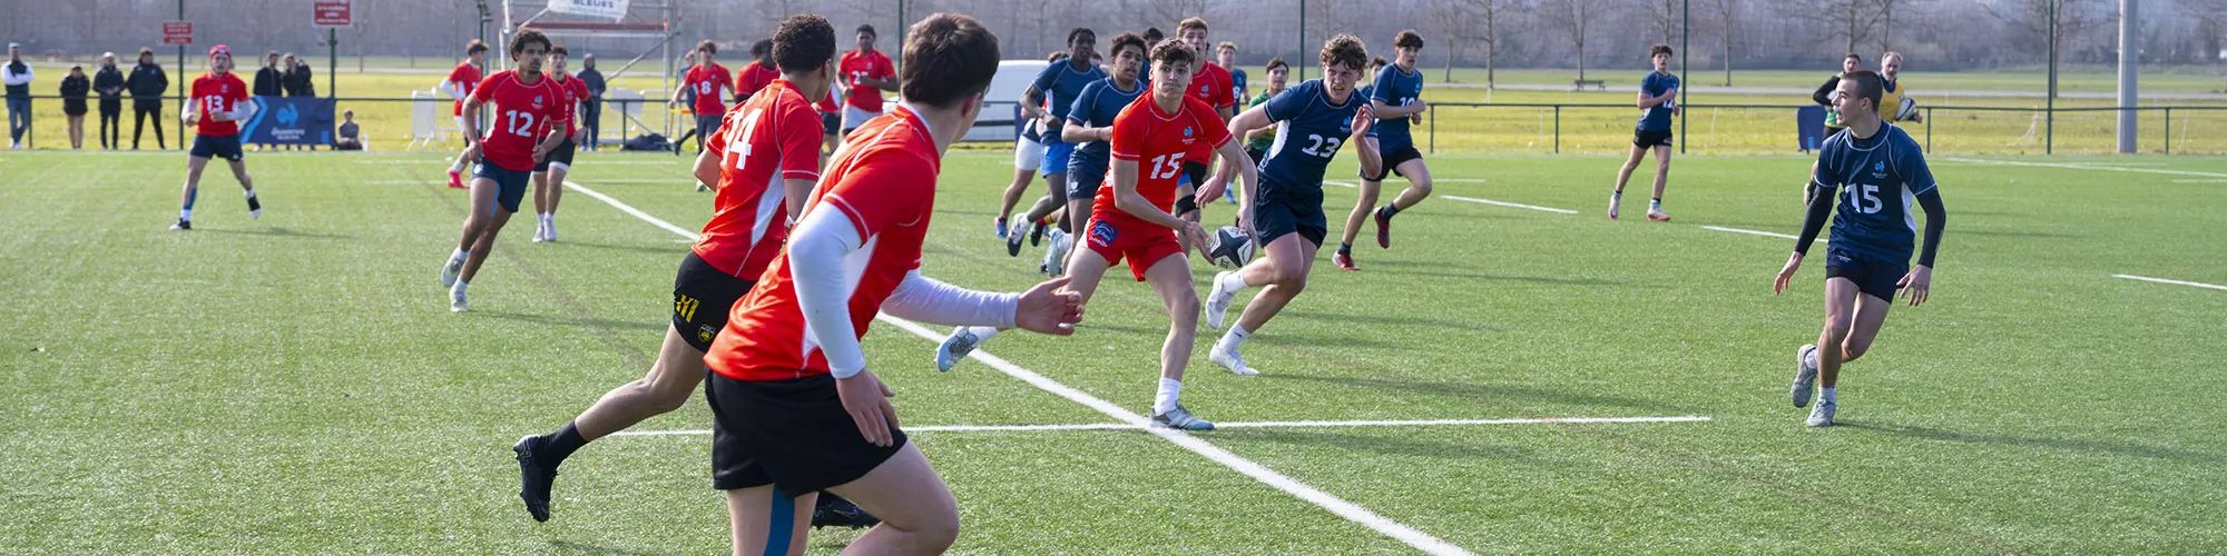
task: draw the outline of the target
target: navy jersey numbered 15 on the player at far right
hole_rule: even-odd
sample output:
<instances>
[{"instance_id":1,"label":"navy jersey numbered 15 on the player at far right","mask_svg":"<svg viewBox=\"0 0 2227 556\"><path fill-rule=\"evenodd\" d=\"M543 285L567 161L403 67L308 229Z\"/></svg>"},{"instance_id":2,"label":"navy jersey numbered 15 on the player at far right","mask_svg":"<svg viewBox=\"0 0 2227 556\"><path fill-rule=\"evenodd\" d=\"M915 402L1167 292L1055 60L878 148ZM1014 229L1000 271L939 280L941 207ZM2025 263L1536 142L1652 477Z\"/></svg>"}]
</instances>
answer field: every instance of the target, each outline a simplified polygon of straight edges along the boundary
<instances>
[{"instance_id":1,"label":"navy jersey numbered 15 on the player at far right","mask_svg":"<svg viewBox=\"0 0 2227 556\"><path fill-rule=\"evenodd\" d=\"M1882 260L1911 260L1917 242L1917 196L1933 191L1924 147L1902 127L1880 125L1880 133L1855 138L1840 131L1817 149L1817 198L1833 196L1833 249L1851 249Z\"/></svg>"}]
</instances>

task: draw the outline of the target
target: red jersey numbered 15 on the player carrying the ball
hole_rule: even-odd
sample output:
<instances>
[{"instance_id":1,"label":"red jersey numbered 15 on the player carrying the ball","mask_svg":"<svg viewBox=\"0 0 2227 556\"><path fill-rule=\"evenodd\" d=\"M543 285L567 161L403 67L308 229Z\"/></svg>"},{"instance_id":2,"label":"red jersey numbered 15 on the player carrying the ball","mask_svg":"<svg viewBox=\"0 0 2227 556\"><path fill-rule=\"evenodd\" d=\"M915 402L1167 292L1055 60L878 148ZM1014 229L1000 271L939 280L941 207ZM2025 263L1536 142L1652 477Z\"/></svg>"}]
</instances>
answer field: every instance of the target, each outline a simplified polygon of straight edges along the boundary
<instances>
[{"instance_id":1,"label":"red jersey numbered 15 on the player carrying the ball","mask_svg":"<svg viewBox=\"0 0 2227 556\"><path fill-rule=\"evenodd\" d=\"M1183 176L1183 162L1194 160L1196 151L1214 151L1225 142L1229 142L1229 129L1207 102L1183 96L1183 105L1167 113L1147 93L1114 116L1109 147L1116 160L1136 162L1136 193L1151 200L1151 207L1169 211L1176 207L1176 180ZM1196 158L1196 162L1205 162L1205 158ZM1107 180L1111 178L1109 171ZM1114 187L1098 189L1098 198L1091 200L1091 218L1120 227L1158 227L1114 205Z\"/></svg>"}]
</instances>

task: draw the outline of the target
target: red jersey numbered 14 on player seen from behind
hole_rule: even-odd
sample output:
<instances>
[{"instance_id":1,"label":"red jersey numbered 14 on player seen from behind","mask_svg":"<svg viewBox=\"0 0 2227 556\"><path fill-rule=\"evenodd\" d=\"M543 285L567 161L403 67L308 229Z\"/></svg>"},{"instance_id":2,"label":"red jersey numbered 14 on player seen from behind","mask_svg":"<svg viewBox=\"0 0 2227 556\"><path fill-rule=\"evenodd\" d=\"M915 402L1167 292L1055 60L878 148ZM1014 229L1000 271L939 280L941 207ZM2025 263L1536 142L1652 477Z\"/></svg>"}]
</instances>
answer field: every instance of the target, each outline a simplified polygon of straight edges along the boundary
<instances>
[{"instance_id":1,"label":"red jersey numbered 14 on player seen from behind","mask_svg":"<svg viewBox=\"0 0 2227 556\"><path fill-rule=\"evenodd\" d=\"M693 251L755 282L788 238L782 180L820 180L820 113L793 85L775 80L726 111L704 151L719 160L719 193Z\"/></svg>"}]
</instances>

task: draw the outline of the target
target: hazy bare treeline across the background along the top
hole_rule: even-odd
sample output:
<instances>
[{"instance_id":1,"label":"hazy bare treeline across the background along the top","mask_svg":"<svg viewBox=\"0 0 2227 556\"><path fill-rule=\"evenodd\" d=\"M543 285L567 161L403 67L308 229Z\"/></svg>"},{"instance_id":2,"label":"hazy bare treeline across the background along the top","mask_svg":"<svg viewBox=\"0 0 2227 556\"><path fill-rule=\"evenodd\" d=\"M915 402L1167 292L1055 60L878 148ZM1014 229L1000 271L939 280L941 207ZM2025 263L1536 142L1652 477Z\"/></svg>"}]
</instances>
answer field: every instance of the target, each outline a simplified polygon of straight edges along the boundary
<instances>
[{"instance_id":1,"label":"hazy bare treeline across the background along the top","mask_svg":"<svg viewBox=\"0 0 2227 556\"><path fill-rule=\"evenodd\" d=\"M160 22L176 18L178 2L22 2L0 18L0 33L29 44L31 53L127 51L158 44ZM895 40L900 24L897 0L635 0L637 13L655 18L648 7L657 2L679 2L681 44L699 38L746 44L797 11L826 13L846 29L875 24L884 42ZM488 4L501 7L499 0ZM1332 33L1356 33L1383 47L1401 29L1419 29L1430 40L1425 64L1434 67L1485 67L1488 76L1499 67L1637 69L1648 44L1684 38L1695 69L1721 69L1724 82L1735 80L1735 69L1831 69L1848 51L1871 58L1888 49L1935 71L2031 69L2049 58L2051 9L2062 60L2118 58L2113 0L909 0L915 18L933 11L982 18L1004 38L1009 58L1060 49L1071 27L1096 27L1100 36L1145 27L1174 31L1178 20L1205 16L1214 38L1238 42L1247 62L1312 60L1314 44ZM2140 13L2142 62L2220 62L2227 0L2145 0ZM323 51L307 0L192 0L187 18L203 44ZM450 58L481 33L477 0L365 0L356 2L356 18L359 27L341 33L347 56ZM655 47L644 38L568 42L604 49L604 58Z\"/></svg>"}]
</instances>

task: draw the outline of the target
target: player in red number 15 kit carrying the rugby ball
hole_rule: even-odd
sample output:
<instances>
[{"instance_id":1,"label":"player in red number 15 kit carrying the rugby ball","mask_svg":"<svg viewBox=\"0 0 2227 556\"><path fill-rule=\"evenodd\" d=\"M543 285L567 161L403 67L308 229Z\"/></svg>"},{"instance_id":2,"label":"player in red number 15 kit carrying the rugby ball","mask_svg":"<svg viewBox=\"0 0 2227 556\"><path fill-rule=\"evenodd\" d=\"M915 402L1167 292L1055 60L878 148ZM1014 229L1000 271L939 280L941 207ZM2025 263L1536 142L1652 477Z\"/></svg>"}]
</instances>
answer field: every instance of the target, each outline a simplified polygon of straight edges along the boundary
<instances>
[{"instance_id":1,"label":"player in red number 15 kit carrying the rugby ball","mask_svg":"<svg viewBox=\"0 0 2227 556\"><path fill-rule=\"evenodd\" d=\"M1136 78L1134 56L1142 51L1142 42L1138 36L1114 40L1114 67L1120 78ZM1191 87L1191 67L1198 67L1198 56L1180 40L1160 42L1151 49L1151 73L1158 76L1151 82L1151 96L1142 96L1120 109L1111 127L1087 127L1091 122L1082 120L1069 122L1069 138L1089 136L1111 145L1114 176L1107 180L1111 187L1091 187L1096 189L1096 207L1089 211L1091 222L1082 227L1087 249L1076 249L1067 258L1067 278L1073 280L1067 285L1067 291L1082 294L1082 300L1089 302L1107 269L1127 258L1129 274L1151 285L1154 294L1160 296L1160 305L1167 307L1169 318L1167 342L1160 345L1160 389L1151 403L1151 425L1211 431L1214 423L1191 416L1178 403L1183 371L1191 360L1191 342L1198 338L1198 291L1191 289L1191 262L1185 258L1183 245L1198 245L1203 251L1207 231L1198 222L1171 214L1176 209L1176 180L1183 173L1183 162L1187 162L1185 156L1198 142L1209 145L1223 160L1232 160L1232 165L1225 165L1225 173L1236 167L1243 178L1245 198L1254 198L1258 173L1252 158L1245 158L1243 147L1232 140L1229 129L1223 127L1214 107L1185 93ZM1085 100L1089 100L1089 93L1085 93ZM1069 116L1082 118L1085 105L1078 102L1076 109ZM1218 180L1225 178L1218 176ZM1080 196L1085 191L1071 193ZM1238 207L1238 222L1249 220L1252 205ZM1176 240L1178 236L1183 242ZM951 354L964 356L995 331L993 327L962 327L953 331L953 338L944 340L944 349L938 351L935 365L949 369L955 358ZM955 342L964 338L980 340L955 349Z\"/></svg>"}]
</instances>

